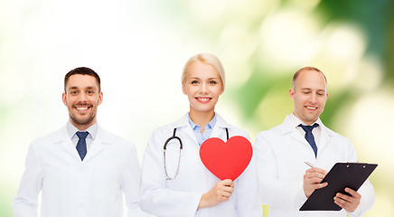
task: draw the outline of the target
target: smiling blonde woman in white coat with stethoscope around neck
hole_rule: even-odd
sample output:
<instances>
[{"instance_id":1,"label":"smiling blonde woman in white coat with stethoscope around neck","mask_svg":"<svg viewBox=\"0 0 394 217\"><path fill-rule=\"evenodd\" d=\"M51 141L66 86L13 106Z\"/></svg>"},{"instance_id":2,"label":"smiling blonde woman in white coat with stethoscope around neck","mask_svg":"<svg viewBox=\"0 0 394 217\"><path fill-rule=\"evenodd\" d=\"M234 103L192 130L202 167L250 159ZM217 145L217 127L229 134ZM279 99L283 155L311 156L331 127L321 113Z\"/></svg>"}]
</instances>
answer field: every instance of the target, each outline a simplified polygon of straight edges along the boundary
<instances>
[{"instance_id":1,"label":"smiling blonde woman in white coat with stethoscope around neck","mask_svg":"<svg viewBox=\"0 0 394 217\"><path fill-rule=\"evenodd\" d=\"M139 203L145 212L171 217L262 216L254 158L234 181L220 181L200 159L200 146L207 138L249 139L245 131L231 126L214 111L224 83L224 70L216 56L201 53L186 62L182 90L189 99L190 112L157 128L149 139ZM164 144L171 137L164 153Z\"/></svg>"}]
</instances>

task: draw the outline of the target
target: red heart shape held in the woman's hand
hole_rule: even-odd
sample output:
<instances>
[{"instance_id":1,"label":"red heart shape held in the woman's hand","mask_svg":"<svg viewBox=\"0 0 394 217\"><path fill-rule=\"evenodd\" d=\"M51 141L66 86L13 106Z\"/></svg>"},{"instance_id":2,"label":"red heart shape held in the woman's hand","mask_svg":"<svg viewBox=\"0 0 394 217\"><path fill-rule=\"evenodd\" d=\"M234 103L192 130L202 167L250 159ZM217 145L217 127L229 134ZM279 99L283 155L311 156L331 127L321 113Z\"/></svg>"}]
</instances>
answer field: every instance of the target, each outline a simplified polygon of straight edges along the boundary
<instances>
[{"instance_id":1,"label":"red heart shape held in the woman's hand","mask_svg":"<svg viewBox=\"0 0 394 217\"><path fill-rule=\"evenodd\" d=\"M249 165L252 145L246 137L230 137L225 143L218 137L205 140L200 147L202 164L221 180L235 180Z\"/></svg>"}]
</instances>

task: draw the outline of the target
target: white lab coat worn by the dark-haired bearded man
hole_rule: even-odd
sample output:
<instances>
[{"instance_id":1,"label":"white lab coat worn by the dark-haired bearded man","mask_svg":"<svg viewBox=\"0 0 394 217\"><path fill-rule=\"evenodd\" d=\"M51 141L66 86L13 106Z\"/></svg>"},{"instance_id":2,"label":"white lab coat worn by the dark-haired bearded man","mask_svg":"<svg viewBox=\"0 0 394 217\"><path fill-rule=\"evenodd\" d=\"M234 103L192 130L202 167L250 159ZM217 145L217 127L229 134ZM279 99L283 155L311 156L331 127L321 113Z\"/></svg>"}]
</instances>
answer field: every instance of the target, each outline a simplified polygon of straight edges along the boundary
<instances>
[{"instance_id":1,"label":"white lab coat worn by the dark-haired bearded man","mask_svg":"<svg viewBox=\"0 0 394 217\"><path fill-rule=\"evenodd\" d=\"M29 147L14 217L37 216L40 191L42 217L123 217L123 193L128 216L145 216L137 204L139 182L136 147L130 142L98 127L82 162L62 127Z\"/></svg>"}]
</instances>

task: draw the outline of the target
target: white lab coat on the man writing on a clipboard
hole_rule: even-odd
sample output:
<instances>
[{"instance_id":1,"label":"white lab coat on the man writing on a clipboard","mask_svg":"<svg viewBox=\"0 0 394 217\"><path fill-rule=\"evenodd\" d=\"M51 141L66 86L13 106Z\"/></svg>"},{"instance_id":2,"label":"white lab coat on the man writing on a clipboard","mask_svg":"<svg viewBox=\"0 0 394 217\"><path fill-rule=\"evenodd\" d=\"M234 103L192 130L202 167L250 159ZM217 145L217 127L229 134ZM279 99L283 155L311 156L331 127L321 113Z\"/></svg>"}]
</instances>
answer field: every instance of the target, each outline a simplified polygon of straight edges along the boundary
<instances>
[{"instance_id":1,"label":"white lab coat on the man writing on a clipboard","mask_svg":"<svg viewBox=\"0 0 394 217\"><path fill-rule=\"evenodd\" d=\"M296 129L291 127L291 118L287 116L283 124L260 132L255 142L255 154L258 164L258 180L263 203L269 205L269 217L288 216L327 216L345 217L346 211L335 212L300 212L299 208L306 201L303 191L305 171L310 167L306 162L327 172L338 162L357 162L356 152L348 138L333 132L320 124L321 133L317 151L314 151ZM321 123L320 119L318 122ZM359 189L361 203L351 217L362 216L371 209L375 193L369 180Z\"/></svg>"}]
</instances>

